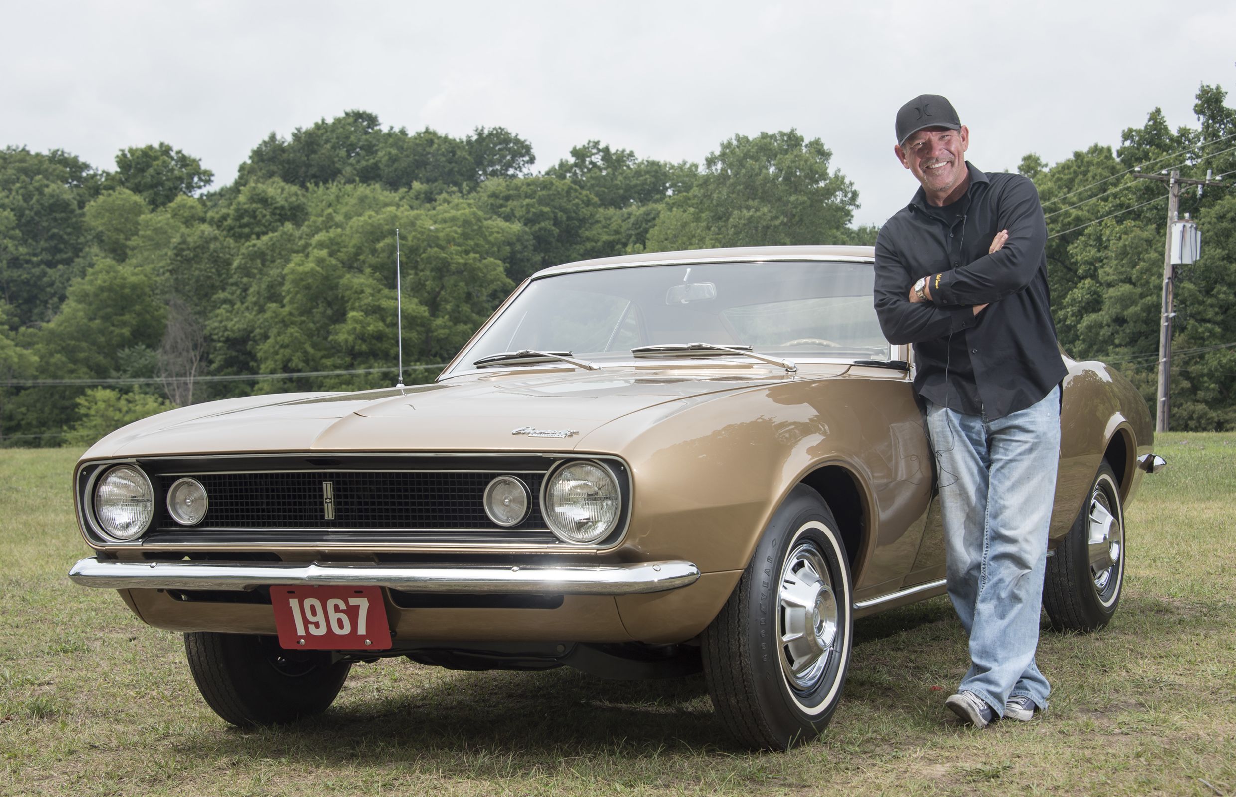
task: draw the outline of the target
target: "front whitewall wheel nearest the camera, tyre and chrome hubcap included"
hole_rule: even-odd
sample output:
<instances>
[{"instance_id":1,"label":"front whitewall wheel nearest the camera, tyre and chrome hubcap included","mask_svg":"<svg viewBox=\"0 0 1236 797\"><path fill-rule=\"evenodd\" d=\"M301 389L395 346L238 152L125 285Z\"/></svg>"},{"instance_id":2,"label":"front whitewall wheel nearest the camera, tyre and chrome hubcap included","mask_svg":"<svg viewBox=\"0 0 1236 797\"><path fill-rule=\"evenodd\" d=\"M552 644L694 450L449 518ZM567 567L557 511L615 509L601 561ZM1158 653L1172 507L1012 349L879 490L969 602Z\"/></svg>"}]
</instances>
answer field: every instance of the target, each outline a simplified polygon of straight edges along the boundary
<instances>
[{"instance_id":1,"label":"front whitewall wheel nearest the camera, tyre and chrome hubcap included","mask_svg":"<svg viewBox=\"0 0 1236 797\"><path fill-rule=\"evenodd\" d=\"M849 667L849 561L819 493L796 487L703 633L718 717L750 748L786 750L832 719Z\"/></svg>"}]
</instances>

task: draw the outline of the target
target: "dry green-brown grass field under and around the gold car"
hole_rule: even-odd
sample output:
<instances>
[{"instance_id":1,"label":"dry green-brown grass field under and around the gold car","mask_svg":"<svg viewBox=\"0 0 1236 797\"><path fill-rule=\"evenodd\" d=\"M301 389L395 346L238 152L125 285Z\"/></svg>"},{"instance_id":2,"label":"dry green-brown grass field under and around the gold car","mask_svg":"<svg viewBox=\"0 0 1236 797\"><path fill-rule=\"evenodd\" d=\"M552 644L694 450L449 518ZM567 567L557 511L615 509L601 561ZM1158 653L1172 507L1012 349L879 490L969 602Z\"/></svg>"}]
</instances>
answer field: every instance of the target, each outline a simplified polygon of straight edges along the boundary
<instances>
[{"instance_id":1,"label":"dry green-brown grass field under and around the gold car","mask_svg":"<svg viewBox=\"0 0 1236 797\"><path fill-rule=\"evenodd\" d=\"M701 678L358 665L328 714L241 732L179 635L64 573L75 451L0 451L0 793L1236 795L1236 435L1162 435L1127 512L1127 583L1098 634L1044 631L1035 723L943 708L965 668L947 601L860 620L845 698L787 754L735 749Z\"/></svg>"}]
</instances>

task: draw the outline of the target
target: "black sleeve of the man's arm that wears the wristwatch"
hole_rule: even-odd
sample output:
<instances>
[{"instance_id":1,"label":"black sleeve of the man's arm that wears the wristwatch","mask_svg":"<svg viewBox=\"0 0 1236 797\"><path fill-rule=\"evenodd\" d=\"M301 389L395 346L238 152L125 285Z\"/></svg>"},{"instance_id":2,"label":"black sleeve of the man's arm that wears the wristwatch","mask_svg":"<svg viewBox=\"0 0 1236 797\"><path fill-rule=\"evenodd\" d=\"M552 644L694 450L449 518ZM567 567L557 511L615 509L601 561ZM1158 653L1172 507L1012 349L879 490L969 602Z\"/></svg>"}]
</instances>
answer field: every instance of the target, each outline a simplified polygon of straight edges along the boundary
<instances>
[{"instance_id":1,"label":"black sleeve of the man's arm that wears the wristwatch","mask_svg":"<svg viewBox=\"0 0 1236 797\"><path fill-rule=\"evenodd\" d=\"M1010 180L996 200L996 229L1007 230L1004 247L932 277L932 300L942 305L999 302L1022 290L1038 273L1047 245L1047 221L1035 184ZM908 290L908 288L907 288Z\"/></svg>"}]
</instances>

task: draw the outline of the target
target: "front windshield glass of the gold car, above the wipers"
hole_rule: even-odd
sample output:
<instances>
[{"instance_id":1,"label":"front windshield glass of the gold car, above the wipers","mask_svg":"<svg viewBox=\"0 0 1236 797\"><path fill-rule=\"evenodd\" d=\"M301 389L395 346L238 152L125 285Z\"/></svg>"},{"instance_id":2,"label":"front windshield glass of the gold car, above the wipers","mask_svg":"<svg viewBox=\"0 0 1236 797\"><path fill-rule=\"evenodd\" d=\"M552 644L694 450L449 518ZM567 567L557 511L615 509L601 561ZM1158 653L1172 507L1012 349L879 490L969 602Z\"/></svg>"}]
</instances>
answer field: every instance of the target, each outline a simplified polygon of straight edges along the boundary
<instances>
[{"instance_id":1,"label":"front windshield glass of the gold car, above the wipers","mask_svg":"<svg viewBox=\"0 0 1236 797\"><path fill-rule=\"evenodd\" d=\"M708 342L779 357L887 360L870 263L641 266L535 279L457 368L523 350L604 362L632 348Z\"/></svg>"}]
</instances>

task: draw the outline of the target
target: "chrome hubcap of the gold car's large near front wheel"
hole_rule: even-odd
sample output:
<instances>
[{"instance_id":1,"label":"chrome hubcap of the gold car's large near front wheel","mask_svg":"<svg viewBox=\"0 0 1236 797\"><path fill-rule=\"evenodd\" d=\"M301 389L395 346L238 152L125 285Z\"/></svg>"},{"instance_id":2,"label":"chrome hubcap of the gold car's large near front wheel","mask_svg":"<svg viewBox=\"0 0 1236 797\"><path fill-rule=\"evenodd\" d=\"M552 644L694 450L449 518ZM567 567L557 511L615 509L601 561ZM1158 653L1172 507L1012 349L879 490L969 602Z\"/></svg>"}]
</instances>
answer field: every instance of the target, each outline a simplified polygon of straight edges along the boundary
<instances>
[{"instance_id":1,"label":"chrome hubcap of the gold car's large near front wheel","mask_svg":"<svg viewBox=\"0 0 1236 797\"><path fill-rule=\"evenodd\" d=\"M777 591L781 670L800 689L811 689L828 666L837 643L837 596L819 550L811 542L794 549Z\"/></svg>"}]
</instances>

